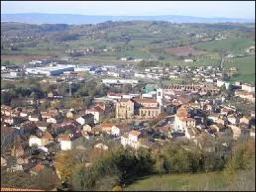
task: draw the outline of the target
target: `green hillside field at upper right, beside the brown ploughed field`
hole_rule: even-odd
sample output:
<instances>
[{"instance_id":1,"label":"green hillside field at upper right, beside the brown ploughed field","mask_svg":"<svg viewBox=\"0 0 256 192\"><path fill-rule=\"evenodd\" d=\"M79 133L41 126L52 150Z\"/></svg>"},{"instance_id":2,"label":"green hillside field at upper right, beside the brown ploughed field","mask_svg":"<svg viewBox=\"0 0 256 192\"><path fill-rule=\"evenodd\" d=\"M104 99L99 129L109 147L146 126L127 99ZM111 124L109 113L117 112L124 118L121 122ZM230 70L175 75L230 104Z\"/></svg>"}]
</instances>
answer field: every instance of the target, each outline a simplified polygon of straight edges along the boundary
<instances>
[{"instance_id":1,"label":"green hillside field at upper right, beside the brown ploughed field","mask_svg":"<svg viewBox=\"0 0 256 192\"><path fill-rule=\"evenodd\" d=\"M245 49L254 45L255 42L247 38L227 38L222 40L214 40L212 42L205 42L195 44L196 49L204 51L227 51L233 54L244 53Z\"/></svg>"}]
</instances>

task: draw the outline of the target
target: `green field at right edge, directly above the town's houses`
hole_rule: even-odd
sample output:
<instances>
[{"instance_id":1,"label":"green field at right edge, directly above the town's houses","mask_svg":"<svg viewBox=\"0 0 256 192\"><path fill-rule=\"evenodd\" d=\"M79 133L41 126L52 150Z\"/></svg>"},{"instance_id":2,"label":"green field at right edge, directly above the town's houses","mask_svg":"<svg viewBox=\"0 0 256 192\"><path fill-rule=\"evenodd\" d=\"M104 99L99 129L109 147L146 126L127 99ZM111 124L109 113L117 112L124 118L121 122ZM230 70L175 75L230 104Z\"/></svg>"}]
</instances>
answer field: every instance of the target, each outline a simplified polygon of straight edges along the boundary
<instances>
[{"instance_id":1,"label":"green field at right edge, directly above the town's houses","mask_svg":"<svg viewBox=\"0 0 256 192\"><path fill-rule=\"evenodd\" d=\"M239 75L231 77L229 81L244 81L248 83L255 83L255 56L245 58L234 58L225 61L224 68L236 67Z\"/></svg>"}]
</instances>

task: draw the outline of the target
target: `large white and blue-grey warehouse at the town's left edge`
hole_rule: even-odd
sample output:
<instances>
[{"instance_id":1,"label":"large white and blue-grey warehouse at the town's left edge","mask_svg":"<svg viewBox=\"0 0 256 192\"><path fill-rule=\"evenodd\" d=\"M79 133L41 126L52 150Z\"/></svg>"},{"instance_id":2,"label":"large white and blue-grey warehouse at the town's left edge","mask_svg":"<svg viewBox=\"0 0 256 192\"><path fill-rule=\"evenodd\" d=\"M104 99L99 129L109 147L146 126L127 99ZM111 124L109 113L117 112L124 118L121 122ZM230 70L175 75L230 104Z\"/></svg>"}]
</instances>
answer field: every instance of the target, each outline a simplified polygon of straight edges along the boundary
<instances>
[{"instance_id":1,"label":"large white and blue-grey warehouse at the town's left edge","mask_svg":"<svg viewBox=\"0 0 256 192\"><path fill-rule=\"evenodd\" d=\"M45 75L45 76L60 76L63 72L74 71L74 65L57 65L54 67L33 67L26 68L28 74Z\"/></svg>"}]
</instances>

